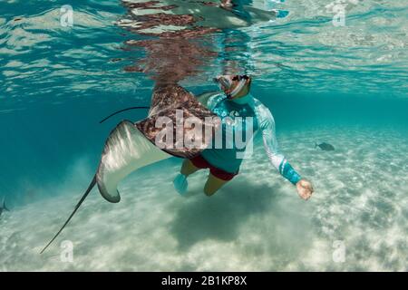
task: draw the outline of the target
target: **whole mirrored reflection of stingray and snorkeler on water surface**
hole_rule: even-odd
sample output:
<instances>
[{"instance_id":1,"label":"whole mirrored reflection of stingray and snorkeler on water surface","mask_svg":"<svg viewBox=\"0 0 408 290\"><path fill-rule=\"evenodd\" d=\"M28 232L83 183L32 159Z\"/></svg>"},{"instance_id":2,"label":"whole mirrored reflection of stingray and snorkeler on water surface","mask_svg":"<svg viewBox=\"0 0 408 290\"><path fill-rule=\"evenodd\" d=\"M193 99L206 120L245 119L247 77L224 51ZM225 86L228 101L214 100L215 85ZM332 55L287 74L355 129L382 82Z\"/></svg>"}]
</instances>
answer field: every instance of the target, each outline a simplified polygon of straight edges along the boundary
<instances>
[{"instance_id":1,"label":"whole mirrored reflection of stingray and snorkeler on water surface","mask_svg":"<svg viewBox=\"0 0 408 290\"><path fill-rule=\"evenodd\" d=\"M235 28L249 24L250 2L122 1L127 14L118 24L142 38L126 41L125 49L146 52L124 70L146 73L156 85L197 77L208 66L213 73L247 73L250 37Z\"/></svg>"}]
</instances>

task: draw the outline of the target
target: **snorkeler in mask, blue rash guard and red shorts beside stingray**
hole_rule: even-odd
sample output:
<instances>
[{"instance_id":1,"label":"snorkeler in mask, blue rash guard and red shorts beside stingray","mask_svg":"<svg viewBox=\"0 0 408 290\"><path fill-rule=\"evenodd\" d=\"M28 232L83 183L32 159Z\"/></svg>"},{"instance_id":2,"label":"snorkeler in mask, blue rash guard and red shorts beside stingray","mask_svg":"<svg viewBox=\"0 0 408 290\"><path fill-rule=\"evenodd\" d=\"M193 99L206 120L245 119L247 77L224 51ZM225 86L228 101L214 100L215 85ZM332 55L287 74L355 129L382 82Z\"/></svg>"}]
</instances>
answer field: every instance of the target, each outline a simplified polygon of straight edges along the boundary
<instances>
[{"instance_id":1,"label":"snorkeler in mask, blue rash guard and red shorts beside stingray","mask_svg":"<svg viewBox=\"0 0 408 290\"><path fill-rule=\"evenodd\" d=\"M223 75L214 81L219 83L223 92L205 93L199 97L199 102L219 116L222 123L220 130L226 132L229 128L235 132L246 131L248 117L252 117L251 130L253 133L257 130L262 132L267 157L272 165L284 178L296 185L300 198L310 198L314 191L312 183L302 179L285 156L277 150L274 118L267 107L250 94L251 78L247 75ZM248 141L246 140L247 144L240 149L236 144L229 147L223 145L222 148L212 147L203 150L199 156L184 160L180 174L173 181L175 189L184 194L188 188L189 175L199 169L209 169L204 193L213 195L238 174L242 163L238 154L246 150Z\"/></svg>"}]
</instances>

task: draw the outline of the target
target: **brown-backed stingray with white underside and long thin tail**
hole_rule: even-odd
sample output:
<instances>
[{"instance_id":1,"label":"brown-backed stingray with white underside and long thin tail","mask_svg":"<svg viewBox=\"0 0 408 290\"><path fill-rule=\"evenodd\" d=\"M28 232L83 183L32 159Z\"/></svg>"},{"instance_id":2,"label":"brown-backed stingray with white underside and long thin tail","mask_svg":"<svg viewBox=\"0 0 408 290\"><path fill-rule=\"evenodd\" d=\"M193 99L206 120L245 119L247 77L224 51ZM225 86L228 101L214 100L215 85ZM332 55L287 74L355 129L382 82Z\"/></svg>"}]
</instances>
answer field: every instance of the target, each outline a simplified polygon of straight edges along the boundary
<instances>
[{"instance_id":1,"label":"brown-backed stingray with white underside and long thin tail","mask_svg":"<svg viewBox=\"0 0 408 290\"><path fill-rule=\"evenodd\" d=\"M181 122L180 119L176 119L177 111L183 113ZM193 138L195 139L194 144L198 144L198 146L192 148L187 145L180 146L180 138L172 139L173 146L165 148L156 146L156 137L159 136L163 129L157 126L160 117L167 118L168 122L166 124L173 126L173 132L176 132L177 125L182 126L182 140L186 136ZM188 118L195 118L198 121L195 122L195 127L192 127L187 121ZM196 134L195 129L198 125L200 129L209 131L211 134ZM83 197L76 204L63 227L44 247L41 254L61 234L63 228L68 225L94 187L99 189L103 198L109 202L117 203L121 200L121 195L117 189L118 184L131 172L172 156L190 159L199 155L202 150L209 146L211 138L219 125L217 116L184 88L177 84L156 87L151 99L149 115L146 119L137 122L121 121L111 131L105 141L98 169L88 189L83 193Z\"/></svg>"}]
</instances>

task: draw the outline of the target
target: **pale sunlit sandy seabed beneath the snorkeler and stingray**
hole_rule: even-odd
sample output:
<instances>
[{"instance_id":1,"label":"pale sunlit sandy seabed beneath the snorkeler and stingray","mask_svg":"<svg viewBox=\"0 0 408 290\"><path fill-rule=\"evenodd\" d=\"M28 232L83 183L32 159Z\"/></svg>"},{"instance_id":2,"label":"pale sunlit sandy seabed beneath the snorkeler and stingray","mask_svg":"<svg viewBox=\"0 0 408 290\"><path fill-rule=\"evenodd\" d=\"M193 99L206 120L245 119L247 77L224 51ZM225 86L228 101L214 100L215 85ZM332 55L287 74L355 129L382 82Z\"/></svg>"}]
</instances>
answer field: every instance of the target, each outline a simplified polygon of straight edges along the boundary
<instances>
[{"instance_id":1,"label":"pale sunlit sandy seabed beneath the snorkeler and stingray","mask_svg":"<svg viewBox=\"0 0 408 290\"><path fill-rule=\"evenodd\" d=\"M119 204L94 190L43 255L81 192L4 213L0 270L407 271L408 137L326 128L278 139L314 182L307 202L267 162L259 140L238 177L211 198L202 193L205 171L180 196L171 184L180 161L166 160L125 179ZM336 150L315 149L315 140ZM73 242L72 263L61 259L63 240Z\"/></svg>"}]
</instances>

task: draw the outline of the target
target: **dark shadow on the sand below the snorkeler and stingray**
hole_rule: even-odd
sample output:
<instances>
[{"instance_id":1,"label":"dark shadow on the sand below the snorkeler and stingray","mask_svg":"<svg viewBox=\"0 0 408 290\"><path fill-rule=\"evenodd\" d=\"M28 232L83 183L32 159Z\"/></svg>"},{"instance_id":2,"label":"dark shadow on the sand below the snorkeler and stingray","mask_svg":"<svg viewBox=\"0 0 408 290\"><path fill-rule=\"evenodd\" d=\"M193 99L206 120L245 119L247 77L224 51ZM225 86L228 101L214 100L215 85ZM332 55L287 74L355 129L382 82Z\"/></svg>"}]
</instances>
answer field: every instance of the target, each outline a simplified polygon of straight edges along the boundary
<instances>
[{"instance_id":1,"label":"dark shadow on the sand below the snorkeler and stingray","mask_svg":"<svg viewBox=\"0 0 408 290\"><path fill-rule=\"evenodd\" d=\"M205 239L232 241L248 218L273 210L271 204L278 207L278 191L278 185L248 185L245 180L235 180L210 198L192 192L194 196L180 208L170 233L178 240L180 251Z\"/></svg>"}]
</instances>

